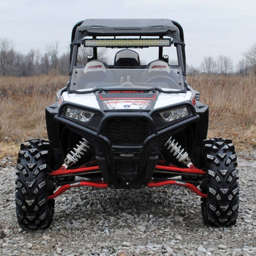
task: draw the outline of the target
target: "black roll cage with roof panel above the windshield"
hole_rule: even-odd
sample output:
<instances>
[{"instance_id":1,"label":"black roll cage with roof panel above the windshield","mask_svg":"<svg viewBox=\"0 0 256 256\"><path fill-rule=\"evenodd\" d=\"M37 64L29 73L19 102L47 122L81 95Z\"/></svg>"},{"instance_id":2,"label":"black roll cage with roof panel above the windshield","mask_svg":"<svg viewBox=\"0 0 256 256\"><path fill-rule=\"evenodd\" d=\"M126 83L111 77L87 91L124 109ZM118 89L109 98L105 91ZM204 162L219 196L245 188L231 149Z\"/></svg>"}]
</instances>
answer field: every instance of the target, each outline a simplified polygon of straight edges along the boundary
<instances>
[{"instance_id":1,"label":"black roll cage with roof panel above the windshield","mask_svg":"<svg viewBox=\"0 0 256 256\"><path fill-rule=\"evenodd\" d=\"M168 19L87 19L74 25L71 34L70 51L70 74L76 66L78 58L78 48L84 44L83 38L90 36L97 39L102 36L154 36L159 39L164 36L172 38L172 42L177 47L178 66L182 68L185 80L185 42L182 26L174 20ZM130 46L129 48L132 48ZM133 48L143 48L134 46ZM93 59L97 59L97 46L93 48ZM127 47L128 48L128 47ZM158 47L158 58L163 60L163 47Z\"/></svg>"}]
</instances>

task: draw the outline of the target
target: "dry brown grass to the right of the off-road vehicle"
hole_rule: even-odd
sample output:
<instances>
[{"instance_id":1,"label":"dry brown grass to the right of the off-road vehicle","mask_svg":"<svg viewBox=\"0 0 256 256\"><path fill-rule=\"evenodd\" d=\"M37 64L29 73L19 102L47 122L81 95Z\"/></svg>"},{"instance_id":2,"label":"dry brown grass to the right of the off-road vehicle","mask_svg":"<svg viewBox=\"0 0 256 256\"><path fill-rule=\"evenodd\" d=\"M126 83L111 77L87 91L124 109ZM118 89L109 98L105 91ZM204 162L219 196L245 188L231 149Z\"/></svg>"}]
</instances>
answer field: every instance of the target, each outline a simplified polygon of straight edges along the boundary
<instances>
[{"instance_id":1,"label":"dry brown grass to the right of the off-road vehicle","mask_svg":"<svg viewBox=\"0 0 256 256\"><path fill-rule=\"evenodd\" d=\"M188 83L209 105L208 137L231 138L239 148L256 147L255 76L198 75Z\"/></svg>"}]
</instances>

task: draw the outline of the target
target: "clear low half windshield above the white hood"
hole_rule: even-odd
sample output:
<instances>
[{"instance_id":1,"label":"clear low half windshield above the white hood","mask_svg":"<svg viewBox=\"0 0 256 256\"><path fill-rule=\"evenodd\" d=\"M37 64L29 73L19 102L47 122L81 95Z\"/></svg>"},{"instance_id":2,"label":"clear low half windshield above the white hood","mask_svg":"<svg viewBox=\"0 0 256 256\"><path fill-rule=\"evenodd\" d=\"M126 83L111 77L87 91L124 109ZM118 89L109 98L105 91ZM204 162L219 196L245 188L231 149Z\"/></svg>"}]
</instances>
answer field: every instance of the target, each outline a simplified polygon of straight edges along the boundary
<instances>
[{"instance_id":1,"label":"clear low half windshield above the white hood","mask_svg":"<svg viewBox=\"0 0 256 256\"><path fill-rule=\"evenodd\" d=\"M110 69L102 66L74 66L71 90L150 90L177 92L185 89L181 68Z\"/></svg>"}]
</instances>

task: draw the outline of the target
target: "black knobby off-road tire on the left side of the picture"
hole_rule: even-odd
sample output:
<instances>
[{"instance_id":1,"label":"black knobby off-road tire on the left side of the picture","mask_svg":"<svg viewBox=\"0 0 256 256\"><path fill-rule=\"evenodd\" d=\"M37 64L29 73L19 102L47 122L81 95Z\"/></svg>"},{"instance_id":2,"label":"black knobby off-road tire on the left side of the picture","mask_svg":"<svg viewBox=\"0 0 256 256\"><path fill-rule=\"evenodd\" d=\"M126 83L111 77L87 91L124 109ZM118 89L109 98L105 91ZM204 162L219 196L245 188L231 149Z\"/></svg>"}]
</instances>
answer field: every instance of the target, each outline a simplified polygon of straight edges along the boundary
<instances>
[{"instance_id":1,"label":"black knobby off-road tire on the left side of the picture","mask_svg":"<svg viewBox=\"0 0 256 256\"><path fill-rule=\"evenodd\" d=\"M16 179L16 214L23 228L47 228L54 215L54 199L47 196L54 192L49 179L52 146L46 140L28 140L18 152Z\"/></svg>"}]
</instances>

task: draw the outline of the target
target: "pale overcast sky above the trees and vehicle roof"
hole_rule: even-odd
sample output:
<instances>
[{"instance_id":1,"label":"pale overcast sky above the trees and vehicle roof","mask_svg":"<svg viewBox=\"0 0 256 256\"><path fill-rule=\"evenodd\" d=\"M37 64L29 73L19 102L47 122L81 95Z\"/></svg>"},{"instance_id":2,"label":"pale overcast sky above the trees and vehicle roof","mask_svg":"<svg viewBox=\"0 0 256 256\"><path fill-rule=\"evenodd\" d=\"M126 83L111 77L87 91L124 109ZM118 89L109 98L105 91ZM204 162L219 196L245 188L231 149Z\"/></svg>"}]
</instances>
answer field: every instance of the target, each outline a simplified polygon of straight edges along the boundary
<instances>
[{"instance_id":1,"label":"pale overcast sky above the trees and vehicle roof","mask_svg":"<svg viewBox=\"0 0 256 256\"><path fill-rule=\"evenodd\" d=\"M183 27L186 61L226 55L234 63L256 43L255 0L0 0L0 39L14 49L68 52L71 30L86 18L169 18Z\"/></svg>"}]
</instances>

